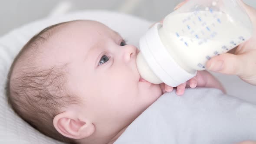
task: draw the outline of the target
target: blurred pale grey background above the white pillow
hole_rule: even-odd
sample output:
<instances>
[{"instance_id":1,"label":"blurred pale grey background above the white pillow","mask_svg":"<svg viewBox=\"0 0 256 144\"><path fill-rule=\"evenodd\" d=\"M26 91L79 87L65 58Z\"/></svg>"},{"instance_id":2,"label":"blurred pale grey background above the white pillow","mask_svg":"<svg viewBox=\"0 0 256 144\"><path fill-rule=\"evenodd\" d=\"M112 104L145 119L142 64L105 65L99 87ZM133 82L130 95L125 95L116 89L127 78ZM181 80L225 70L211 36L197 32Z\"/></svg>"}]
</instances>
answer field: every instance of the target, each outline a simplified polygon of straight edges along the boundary
<instances>
[{"instance_id":1,"label":"blurred pale grey background above the white pillow","mask_svg":"<svg viewBox=\"0 0 256 144\"><path fill-rule=\"evenodd\" d=\"M1 0L0 36L43 17L77 10L113 10L158 21L183 0ZM256 0L244 0L256 8Z\"/></svg>"}]
</instances>

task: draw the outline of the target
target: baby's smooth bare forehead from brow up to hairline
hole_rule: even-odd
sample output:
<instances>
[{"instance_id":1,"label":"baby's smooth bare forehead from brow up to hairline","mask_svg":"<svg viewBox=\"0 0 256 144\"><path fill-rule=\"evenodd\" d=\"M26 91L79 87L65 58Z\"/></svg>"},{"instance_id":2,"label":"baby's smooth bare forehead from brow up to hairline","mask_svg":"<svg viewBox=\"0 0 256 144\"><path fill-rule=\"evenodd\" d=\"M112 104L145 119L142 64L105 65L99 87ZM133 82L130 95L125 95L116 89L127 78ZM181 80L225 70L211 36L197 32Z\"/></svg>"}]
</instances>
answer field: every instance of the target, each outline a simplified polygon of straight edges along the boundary
<instances>
[{"instance_id":1,"label":"baby's smooth bare forehead from brow up to hairline","mask_svg":"<svg viewBox=\"0 0 256 144\"><path fill-rule=\"evenodd\" d=\"M95 45L103 45L108 39L121 39L121 36L102 23L79 20L65 24L56 30L42 45L43 63L74 62L84 59Z\"/></svg>"}]
</instances>

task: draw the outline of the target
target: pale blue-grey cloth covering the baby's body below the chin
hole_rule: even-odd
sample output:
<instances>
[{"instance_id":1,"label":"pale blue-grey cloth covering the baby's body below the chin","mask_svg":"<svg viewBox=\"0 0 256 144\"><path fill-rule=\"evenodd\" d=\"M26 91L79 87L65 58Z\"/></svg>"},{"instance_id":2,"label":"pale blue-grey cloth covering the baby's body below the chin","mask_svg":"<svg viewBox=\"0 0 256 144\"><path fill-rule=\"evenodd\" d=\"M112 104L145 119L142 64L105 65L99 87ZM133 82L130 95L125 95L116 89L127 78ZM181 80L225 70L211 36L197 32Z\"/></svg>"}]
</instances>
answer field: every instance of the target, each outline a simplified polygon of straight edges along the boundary
<instances>
[{"instance_id":1,"label":"pale blue-grey cloth covering the baby's body below the chin","mask_svg":"<svg viewBox=\"0 0 256 144\"><path fill-rule=\"evenodd\" d=\"M236 144L256 141L256 105L217 89L165 93L115 144Z\"/></svg>"}]
</instances>

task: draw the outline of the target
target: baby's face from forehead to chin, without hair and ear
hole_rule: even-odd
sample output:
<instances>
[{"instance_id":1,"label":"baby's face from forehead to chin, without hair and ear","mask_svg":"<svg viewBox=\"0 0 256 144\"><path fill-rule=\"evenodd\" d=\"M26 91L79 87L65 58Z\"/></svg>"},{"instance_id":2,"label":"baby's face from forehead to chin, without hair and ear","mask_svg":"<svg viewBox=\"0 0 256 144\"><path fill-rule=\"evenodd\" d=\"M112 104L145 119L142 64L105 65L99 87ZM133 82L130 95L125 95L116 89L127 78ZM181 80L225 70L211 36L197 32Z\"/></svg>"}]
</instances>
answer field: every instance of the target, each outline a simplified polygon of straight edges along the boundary
<instances>
[{"instance_id":1,"label":"baby's face from forehead to chin, without hair and ear","mask_svg":"<svg viewBox=\"0 0 256 144\"><path fill-rule=\"evenodd\" d=\"M46 45L49 63L68 63L67 88L98 128L127 126L161 95L159 85L139 81L138 49L101 23L73 22Z\"/></svg>"}]
</instances>

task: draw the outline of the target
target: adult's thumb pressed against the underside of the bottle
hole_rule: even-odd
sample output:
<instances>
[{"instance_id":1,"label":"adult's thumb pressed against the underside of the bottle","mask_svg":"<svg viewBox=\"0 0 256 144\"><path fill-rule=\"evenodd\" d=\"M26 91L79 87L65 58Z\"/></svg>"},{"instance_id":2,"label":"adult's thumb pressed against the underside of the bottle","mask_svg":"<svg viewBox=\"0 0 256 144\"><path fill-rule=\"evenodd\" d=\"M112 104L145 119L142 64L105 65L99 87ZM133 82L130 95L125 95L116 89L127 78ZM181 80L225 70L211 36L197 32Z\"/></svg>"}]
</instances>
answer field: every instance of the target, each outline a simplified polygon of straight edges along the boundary
<instances>
[{"instance_id":1,"label":"adult's thumb pressed against the underside of the bottle","mask_svg":"<svg viewBox=\"0 0 256 144\"><path fill-rule=\"evenodd\" d=\"M242 75L244 66L241 56L230 53L215 56L206 64L206 68L210 71L230 75Z\"/></svg>"}]
</instances>

